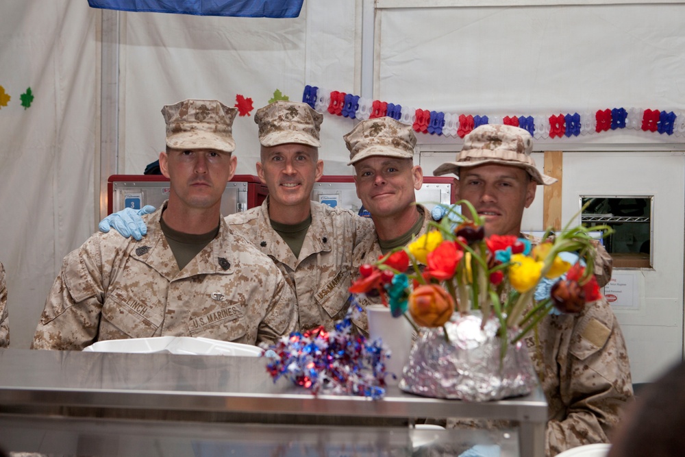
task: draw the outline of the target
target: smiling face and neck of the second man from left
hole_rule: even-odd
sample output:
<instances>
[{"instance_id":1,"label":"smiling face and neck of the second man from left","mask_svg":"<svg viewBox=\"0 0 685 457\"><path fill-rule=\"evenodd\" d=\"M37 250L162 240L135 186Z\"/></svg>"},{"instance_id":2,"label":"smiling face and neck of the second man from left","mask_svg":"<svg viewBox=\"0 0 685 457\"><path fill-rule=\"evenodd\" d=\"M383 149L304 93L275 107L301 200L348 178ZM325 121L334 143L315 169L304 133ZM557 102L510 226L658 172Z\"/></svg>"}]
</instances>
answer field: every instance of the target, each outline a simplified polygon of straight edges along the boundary
<instances>
[{"instance_id":1,"label":"smiling face and neck of the second man from left","mask_svg":"<svg viewBox=\"0 0 685 457\"><path fill-rule=\"evenodd\" d=\"M261 160L257 175L269 188L269 217L281 222L306 213L306 219L314 183L323 175L319 149L298 143L262 146Z\"/></svg>"}]
</instances>

